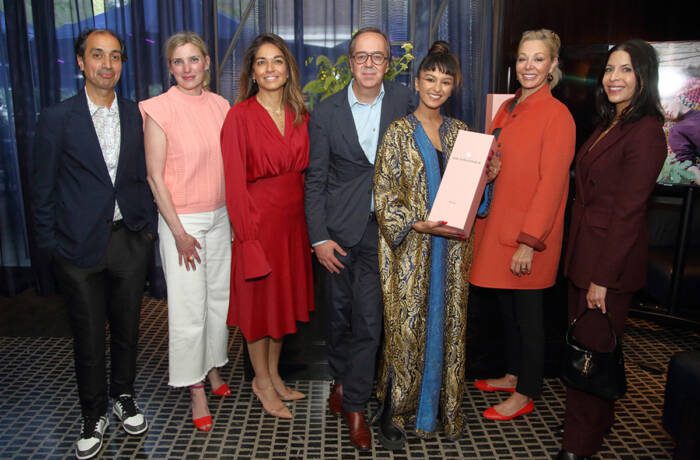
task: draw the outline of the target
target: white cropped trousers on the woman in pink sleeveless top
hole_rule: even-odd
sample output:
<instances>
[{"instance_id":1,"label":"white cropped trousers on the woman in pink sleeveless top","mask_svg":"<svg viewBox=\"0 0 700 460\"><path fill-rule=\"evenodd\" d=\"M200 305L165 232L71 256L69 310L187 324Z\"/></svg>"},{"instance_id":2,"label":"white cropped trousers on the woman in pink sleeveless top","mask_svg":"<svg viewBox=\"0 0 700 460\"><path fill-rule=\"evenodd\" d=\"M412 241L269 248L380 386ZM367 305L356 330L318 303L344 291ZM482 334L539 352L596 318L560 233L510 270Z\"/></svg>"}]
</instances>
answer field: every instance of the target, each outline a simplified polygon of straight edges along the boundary
<instances>
[{"instance_id":1,"label":"white cropped trousers on the woman in pink sleeveless top","mask_svg":"<svg viewBox=\"0 0 700 460\"><path fill-rule=\"evenodd\" d=\"M202 381L214 367L228 362L231 224L226 207L179 214L185 231L197 239L201 264L187 271L178 263L168 224L158 217L160 257L168 288L169 385Z\"/></svg>"}]
</instances>

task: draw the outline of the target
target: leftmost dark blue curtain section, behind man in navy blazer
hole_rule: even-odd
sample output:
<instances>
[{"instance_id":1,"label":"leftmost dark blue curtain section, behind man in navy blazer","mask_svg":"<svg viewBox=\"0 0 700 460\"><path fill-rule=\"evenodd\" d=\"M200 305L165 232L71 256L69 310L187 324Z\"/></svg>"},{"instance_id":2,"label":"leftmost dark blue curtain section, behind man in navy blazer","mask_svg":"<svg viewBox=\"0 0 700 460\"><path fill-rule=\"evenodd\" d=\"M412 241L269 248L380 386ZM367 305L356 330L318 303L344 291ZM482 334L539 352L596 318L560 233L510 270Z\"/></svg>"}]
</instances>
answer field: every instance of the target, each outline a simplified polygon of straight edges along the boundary
<instances>
[{"instance_id":1,"label":"leftmost dark blue curtain section, behind man in navy blazer","mask_svg":"<svg viewBox=\"0 0 700 460\"><path fill-rule=\"evenodd\" d=\"M95 11L95 7L100 7ZM42 108L83 87L73 44L87 28L108 28L124 39L129 60L117 91L141 100L168 87L162 57L165 39L194 30L213 46L214 0L4 0L0 13L0 293L12 295L34 285L55 292L49 267L32 266L33 224L29 209L29 152ZM151 294L162 295L154 270Z\"/></svg>"}]
</instances>

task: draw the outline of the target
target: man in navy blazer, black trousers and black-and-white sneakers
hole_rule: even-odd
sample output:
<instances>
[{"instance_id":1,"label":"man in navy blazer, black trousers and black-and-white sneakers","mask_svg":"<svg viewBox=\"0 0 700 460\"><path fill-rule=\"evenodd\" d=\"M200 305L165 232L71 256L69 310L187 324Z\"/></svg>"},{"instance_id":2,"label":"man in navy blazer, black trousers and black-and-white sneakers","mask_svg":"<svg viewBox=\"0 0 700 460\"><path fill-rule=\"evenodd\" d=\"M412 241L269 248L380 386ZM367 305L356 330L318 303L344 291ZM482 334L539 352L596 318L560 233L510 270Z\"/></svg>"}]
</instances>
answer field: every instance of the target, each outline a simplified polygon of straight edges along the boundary
<instances>
[{"instance_id":1,"label":"man in navy blazer, black trousers and black-and-white sneakers","mask_svg":"<svg viewBox=\"0 0 700 460\"><path fill-rule=\"evenodd\" d=\"M33 151L37 246L51 263L73 330L82 412L79 459L97 455L113 412L129 434L148 429L134 401L139 313L153 250L155 205L146 183L142 121L114 88L126 59L111 31L75 45L85 88L45 109ZM107 390L105 322L111 333Z\"/></svg>"}]
</instances>

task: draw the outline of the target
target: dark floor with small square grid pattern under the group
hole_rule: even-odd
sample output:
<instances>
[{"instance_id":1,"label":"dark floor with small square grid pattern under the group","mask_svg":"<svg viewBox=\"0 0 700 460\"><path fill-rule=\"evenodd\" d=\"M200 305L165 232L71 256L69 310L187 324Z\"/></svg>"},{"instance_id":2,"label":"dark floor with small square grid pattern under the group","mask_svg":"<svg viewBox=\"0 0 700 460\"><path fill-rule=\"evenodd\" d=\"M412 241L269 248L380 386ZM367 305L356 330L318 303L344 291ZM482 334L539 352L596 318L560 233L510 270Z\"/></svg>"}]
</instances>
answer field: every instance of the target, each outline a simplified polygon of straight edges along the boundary
<instances>
[{"instance_id":1,"label":"dark floor with small square grid pattern under the group","mask_svg":"<svg viewBox=\"0 0 700 460\"><path fill-rule=\"evenodd\" d=\"M552 427L560 423L564 388L547 379L536 411L525 418L483 419L480 413L502 396L470 387L464 401L468 427L459 442L409 436L403 451L384 451L375 440L372 451L358 453L340 420L325 410L326 381L290 382L309 396L293 404L292 421L264 414L244 381L237 332L231 335L230 363L223 369L233 397L210 399L215 426L199 433L189 421L187 392L167 386L166 321L165 303L145 298L136 383L151 429L130 437L112 417L102 458L546 459L559 449ZM671 457L673 444L660 424L665 369L673 353L691 348L700 348L697 331L630 321L625 352L631 390L618 406L614 430L599 458ZM0 458L71 457L79 415L70 338L0 337Z\"/></svg>"}]
</instances>

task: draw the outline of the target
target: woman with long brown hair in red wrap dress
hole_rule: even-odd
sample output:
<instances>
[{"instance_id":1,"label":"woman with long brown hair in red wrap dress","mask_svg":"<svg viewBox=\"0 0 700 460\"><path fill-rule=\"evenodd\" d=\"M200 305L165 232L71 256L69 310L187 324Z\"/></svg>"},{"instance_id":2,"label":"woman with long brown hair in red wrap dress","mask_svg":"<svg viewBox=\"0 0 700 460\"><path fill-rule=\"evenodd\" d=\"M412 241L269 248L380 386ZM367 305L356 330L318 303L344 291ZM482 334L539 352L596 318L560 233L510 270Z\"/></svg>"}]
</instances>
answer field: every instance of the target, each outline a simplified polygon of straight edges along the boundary
<instances>
[{"instance_id":1,"label":"woman with long brown hair in red wrap dress","mask_svg":"<svg viewBox=\"0 0 700 460\"><path fill-rule=\"evenodd\" d=\"M248 345L252 388L269 414L305 395L279 375L282 339L314 308L304 218L308 112L284 41L261 34L248 47L240 94L221 131L226 204L234 232L228 323Z\"/></svg>"}]
</instances>

